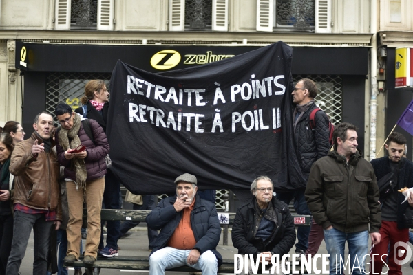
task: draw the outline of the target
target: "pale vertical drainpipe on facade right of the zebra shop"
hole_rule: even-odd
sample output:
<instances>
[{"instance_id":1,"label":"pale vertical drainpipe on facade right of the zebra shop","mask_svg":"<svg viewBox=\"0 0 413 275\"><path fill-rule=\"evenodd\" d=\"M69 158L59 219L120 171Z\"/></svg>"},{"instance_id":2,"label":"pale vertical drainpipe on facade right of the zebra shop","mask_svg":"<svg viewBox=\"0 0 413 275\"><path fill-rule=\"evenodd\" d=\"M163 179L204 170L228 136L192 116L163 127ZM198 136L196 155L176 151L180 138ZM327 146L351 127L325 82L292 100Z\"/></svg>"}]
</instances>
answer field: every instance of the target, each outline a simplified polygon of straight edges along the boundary
<instances>
[{"instance_id":1,"label":"pale vertical drainpipe on facade right of the zebra shop","mask_svg":"<svg viewBox=\"0 0 413 275\"><path fill-rule=\"evenodd\" d=\"M377 0L370 0L370 161L376 157L377 129Z\"/></svg>"}]
</instances>

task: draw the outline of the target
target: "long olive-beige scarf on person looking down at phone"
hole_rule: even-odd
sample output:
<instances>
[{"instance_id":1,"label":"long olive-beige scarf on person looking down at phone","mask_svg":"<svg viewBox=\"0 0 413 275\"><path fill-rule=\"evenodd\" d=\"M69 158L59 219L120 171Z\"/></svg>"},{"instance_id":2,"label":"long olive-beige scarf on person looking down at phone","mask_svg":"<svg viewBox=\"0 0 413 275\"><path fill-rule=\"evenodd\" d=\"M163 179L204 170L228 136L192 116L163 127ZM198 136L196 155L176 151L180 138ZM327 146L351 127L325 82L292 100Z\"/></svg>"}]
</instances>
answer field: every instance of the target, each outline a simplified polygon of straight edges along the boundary
<instances>
[{"instance_id":1,"label":"long olive-beige scarf on person looking down at phone","mask_svg":"<svg viewBox=\"0 0 413 275\"><path fill-rule=\"evenodd\" d=\"M77 113L73 118L72 129L66 130L61 127L59 131L59 144L63 147L63 150L74 149L77 146L81 145L81 140L78 137L79 130L81 129L81 116ZM70 144L69 144L69 140ZM76 183L80 188L86 190L86 178L87 170L84 159L74 158L72 159L72 167L76 169Z\"/></svg>"}]
</instances>

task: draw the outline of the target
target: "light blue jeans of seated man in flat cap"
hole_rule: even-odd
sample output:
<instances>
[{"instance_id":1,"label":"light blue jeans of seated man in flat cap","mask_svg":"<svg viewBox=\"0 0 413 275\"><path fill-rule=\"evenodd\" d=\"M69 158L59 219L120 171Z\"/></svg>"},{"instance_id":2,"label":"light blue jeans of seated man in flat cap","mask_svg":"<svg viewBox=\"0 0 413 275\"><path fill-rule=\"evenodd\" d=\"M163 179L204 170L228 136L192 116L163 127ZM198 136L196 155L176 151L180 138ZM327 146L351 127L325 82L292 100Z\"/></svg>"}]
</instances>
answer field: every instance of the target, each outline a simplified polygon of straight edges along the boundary
<instances>
[{"instance_id":1,"label":"light blue jeans of seated man in flat cap","mask_svg":"<svg viewBox=\"0 0 413 275\"><path fill-rule=\"evenodd\" d=\"M202 275L216 275L218 272L218 261L211 250L201 254L198 263L189 265L187 257L191 250L178 250L169 246L156 250L149 258L149 275L165 274L165 270L173 267L188 265L201 270Z\"/></svg>"}]
</instances>

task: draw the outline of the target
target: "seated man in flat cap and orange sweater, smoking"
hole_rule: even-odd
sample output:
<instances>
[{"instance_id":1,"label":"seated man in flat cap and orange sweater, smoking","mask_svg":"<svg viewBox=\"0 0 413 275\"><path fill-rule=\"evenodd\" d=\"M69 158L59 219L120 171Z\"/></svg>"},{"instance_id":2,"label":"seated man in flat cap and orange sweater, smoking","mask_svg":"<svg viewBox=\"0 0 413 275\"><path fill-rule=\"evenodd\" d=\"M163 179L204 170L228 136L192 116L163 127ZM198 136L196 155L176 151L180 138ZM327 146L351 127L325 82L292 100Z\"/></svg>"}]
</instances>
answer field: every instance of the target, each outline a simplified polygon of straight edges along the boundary
<instances>
[{"instance_id":1,"label":"seated man in flat cap and orange sweater, smoking","mask_svg":"<svg viewBox=\"0 0 413 275\"><path fill-rule=\"evenodd\" d=\"M149 274L188 265L215 275L222 263L216 250L221 228L215 205L196 195L194 175L180 175L175 184L177 196L162 199L146 218L149 228L160 230L149 256Z\"/></svg>"}]
</instances>

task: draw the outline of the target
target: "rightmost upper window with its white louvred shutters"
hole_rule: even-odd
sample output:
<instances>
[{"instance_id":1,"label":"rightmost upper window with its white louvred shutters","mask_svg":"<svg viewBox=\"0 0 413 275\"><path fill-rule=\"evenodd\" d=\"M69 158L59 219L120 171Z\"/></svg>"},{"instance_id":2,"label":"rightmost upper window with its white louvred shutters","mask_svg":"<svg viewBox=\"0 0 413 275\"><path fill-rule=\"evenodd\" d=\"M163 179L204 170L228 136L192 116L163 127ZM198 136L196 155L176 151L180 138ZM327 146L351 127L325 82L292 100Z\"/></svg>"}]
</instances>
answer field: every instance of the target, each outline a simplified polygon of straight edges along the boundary
<instances>
[{"instance_id":1,"label":"rightmost upper window with its white louvred shutters","mask_svg":"<svg viewBox=\"0 0 413 275\"><path fill-rule=\"evenodd\" d=\"M257 0L257 31L331 32L331 0Z\"/></svg>"}]
</instances>

